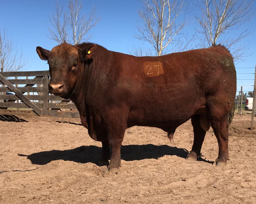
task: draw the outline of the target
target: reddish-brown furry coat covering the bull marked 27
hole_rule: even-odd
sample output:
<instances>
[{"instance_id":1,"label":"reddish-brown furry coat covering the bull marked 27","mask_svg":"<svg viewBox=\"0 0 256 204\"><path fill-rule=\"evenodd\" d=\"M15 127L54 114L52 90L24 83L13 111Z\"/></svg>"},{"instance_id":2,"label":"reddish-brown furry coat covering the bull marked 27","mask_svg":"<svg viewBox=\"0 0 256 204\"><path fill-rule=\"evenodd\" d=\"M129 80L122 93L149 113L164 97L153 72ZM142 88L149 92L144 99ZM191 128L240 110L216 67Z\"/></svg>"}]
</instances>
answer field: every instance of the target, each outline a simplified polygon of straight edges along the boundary
<instances>
[{"instance_id":1,"label":"reddish-brown furry coat covering the bull marked 27","mask_svg":"<svg viewBox=\"0 0 256 204\"><path fill-rule=\"evenodd\" d=\"M74 49L79 62L73 71L69 61ZM188 157L200 157L205 132L211 124L219 144L216 161L226 163L236 71L225 47L135 57L92 43L76 46L63 43L51 52L37 47L37 53L48 61L55 53L55 62L59 64L54 68L50 65L51 81L64 85L60 94L76 104L89 135L102 142L101 162L108 161L109 146L112 148L109 169L120 166L120 147L126 128L135 125L161 128L172 138L175 129L190 118L194 144ZM56 56L60 59L56 60ZM164 71L158 74L155 66L154 76L147 77L150 72L145 71L145 62L161 63Z\"/></svg>"}]
</instances>

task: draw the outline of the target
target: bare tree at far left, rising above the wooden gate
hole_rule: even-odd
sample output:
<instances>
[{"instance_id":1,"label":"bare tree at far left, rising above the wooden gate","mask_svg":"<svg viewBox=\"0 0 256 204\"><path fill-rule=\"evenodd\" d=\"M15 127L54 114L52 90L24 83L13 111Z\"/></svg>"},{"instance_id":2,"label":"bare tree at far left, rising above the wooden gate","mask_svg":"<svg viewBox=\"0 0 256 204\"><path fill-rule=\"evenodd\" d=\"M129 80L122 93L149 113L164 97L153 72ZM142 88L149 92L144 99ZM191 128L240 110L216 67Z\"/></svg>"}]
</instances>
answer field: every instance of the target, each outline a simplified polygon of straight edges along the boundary
<instances>
[{"instance_id":1,"label":"bare tree at far left, rising above the wooden gate","mask_svg":"<svg viewBox=\"0 0 256 204\"><path fill-rule=\"evenodd\" d=\"M23 59L22 50L17 53L17 46L11 39L8 39L8 33L0 27L0 71L18 71L23 68L28 60Z\"/></svg>"}]
</instances>

